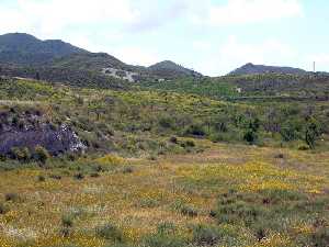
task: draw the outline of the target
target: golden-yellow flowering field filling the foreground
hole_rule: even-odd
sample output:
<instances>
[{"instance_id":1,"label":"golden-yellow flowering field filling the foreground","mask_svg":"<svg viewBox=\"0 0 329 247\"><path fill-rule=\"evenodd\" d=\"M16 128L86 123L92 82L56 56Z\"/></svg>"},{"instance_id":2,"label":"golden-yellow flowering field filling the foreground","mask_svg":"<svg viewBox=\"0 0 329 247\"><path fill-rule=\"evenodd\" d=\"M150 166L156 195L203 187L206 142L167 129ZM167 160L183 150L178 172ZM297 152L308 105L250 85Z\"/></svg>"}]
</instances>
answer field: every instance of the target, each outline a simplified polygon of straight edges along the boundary
<instances>
[{"instance_id":1,"label":"golden-yellow flowering field filling the foreground","mask_svg":"<svg viewBox=\"0 0 329 247\"><path fill-rule=\"evenodd\" d=\"M329 153L195 142L3 169L0 246L329 246Z\"/></svg>"}]
</instances>

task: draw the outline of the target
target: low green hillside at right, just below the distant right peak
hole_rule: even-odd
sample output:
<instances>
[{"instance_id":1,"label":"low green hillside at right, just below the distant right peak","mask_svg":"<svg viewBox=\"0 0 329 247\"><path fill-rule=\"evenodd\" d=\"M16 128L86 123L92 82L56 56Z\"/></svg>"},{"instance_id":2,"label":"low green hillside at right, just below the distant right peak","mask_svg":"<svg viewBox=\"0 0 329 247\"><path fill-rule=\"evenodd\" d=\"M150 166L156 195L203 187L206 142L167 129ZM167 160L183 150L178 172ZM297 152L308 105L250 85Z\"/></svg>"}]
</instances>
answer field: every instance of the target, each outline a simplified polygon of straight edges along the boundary
<instances>
[{"instance_id":1,"label":"low green hillside at right, just below the distant right peak","mask_svg":"<svg viewBox=\"0 0 329 247\"><path fill-rule=\"evenodd\" d=\"M188 92L213 99L315 100L329 99L329 76L260 74L218 78L181 78L161 82L141 82L143 88Z\"/></svg>"}]
</instances>

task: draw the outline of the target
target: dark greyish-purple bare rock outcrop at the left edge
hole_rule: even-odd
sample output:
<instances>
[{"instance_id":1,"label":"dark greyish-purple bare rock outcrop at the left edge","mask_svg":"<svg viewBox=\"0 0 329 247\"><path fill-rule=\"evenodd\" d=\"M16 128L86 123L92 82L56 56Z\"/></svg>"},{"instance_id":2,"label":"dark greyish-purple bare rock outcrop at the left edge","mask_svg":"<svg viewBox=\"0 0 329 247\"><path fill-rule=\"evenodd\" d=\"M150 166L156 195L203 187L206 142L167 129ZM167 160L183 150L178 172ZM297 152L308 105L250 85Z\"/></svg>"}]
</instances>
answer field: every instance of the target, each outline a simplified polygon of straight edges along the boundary
<instances>
[{"instance_id":1,"label":"dark greyish-purple bare rock outcrop at the left edge","mask_svg":"<svg viewBox=\"0 0 329 247\"><path fill-rule=\"evenodd\" d=\"M0 154L8 155L14 147L34 149L36 146L42 146L54 156L86 149L77 134L67 125L61 124L55 127L50 123L39 123L36 120L37 116L30 117L26 121L29 124L2 122L0 126Z\"/></svg>"}]
</instances>

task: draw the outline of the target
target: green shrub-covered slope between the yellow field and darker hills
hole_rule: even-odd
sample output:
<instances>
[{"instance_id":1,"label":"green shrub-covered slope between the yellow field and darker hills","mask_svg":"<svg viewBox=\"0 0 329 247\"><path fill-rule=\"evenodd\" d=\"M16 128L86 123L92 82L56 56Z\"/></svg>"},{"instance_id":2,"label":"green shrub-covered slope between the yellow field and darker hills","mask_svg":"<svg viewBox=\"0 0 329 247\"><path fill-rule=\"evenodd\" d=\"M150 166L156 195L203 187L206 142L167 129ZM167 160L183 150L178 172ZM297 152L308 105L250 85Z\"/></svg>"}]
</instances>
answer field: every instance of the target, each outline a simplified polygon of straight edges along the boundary
<instances>
[{"instance_id":1,"label":"green shrub-covered slope between the yellow field and darker hills","mask_svg":"<svg viewBox=\"0 0 329 247\"><path fill-rule=\"evenodd\" d=\"M182 92L70 88L15 79L2 79L0 86L4 105L19 100L13 110L18 117L22 109L41 109L56 126L71 127L90 151L138 156L194 147L170 141L172 136L321 149L329 134L327 102L241 104Z\"/></svg>"}]
</instances>

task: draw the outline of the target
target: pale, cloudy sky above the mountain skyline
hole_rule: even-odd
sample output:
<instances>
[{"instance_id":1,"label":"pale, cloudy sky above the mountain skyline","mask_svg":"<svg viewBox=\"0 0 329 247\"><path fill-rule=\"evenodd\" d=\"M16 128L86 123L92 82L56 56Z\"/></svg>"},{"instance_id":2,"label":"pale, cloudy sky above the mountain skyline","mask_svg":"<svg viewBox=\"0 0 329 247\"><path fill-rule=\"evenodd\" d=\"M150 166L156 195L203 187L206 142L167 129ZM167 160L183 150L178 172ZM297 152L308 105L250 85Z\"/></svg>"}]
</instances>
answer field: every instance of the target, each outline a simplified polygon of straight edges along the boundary
<instances>
[{"instance_id":1,"label":"pale, cloudy sky above the mountain skyline","mask_svg":"<svg viewBox=\"0 0 329 247\"><path fill-rule=\"evenodd\" d=\"M207 76L247 63L329 71L328 0L0 0L0 34L63 40Z\"/></svg>"}]
</instances>

